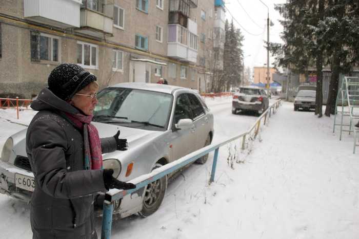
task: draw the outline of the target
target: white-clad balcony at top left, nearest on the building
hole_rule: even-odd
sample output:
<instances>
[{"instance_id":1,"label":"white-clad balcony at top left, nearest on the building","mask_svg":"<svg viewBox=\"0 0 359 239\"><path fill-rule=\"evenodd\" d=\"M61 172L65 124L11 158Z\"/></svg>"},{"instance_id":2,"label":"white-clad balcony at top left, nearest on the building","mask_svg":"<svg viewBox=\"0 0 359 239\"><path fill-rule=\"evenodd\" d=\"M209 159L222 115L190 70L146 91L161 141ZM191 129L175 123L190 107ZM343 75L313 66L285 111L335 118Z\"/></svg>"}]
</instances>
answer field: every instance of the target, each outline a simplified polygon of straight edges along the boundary
<instances>
[{"instance_id":1,"label":"white-clad balcony at top left, nearest on the building","mask_svg":"<svg viewBox=\"0 0 359 239\"><path fill-rule=\"evenodd\" d=\"M58 28L80 26L81 0L24 0L24 17Z\"/></svg>"}]
</instances>

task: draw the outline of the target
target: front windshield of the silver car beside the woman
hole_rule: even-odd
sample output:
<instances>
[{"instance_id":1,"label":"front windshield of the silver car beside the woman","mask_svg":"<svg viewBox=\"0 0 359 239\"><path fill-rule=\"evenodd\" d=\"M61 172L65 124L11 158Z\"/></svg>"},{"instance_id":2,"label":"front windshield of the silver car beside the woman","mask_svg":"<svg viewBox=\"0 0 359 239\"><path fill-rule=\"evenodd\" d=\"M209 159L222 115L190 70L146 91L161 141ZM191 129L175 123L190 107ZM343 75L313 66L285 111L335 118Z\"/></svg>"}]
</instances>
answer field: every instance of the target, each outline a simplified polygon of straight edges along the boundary
<instances>
[{"instance_id":1,"label":"front windshield of the silver car beside the woman","mask_svg":"<svg viewBox=\"0 0 359 239\"><path fill-rule=\"evenodd\" d=\"M167 128L173 97L161 92L107 88L97 99L93 121L161 131Z\"/></svg>"}]
</instances>

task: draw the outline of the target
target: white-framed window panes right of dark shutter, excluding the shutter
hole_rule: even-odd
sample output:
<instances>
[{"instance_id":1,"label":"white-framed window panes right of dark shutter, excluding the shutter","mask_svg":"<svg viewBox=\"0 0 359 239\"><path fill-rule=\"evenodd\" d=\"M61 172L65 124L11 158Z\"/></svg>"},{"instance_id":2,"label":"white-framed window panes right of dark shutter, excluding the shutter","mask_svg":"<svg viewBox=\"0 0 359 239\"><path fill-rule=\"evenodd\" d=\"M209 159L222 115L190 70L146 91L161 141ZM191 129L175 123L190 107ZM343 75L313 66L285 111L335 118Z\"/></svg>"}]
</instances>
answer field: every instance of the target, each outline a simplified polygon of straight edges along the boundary
<instances>
[{"instance_id":1,"label":"white-framed window panes right of dark shutter, excluding the shutter","mask_svg":"<svg viewBox=\"0 0 359 239\"><path fill-rule=\"evenodd\" d=\"M40 60L59 62L60 38L40 33Z\"/></svg>"}]
</instances>

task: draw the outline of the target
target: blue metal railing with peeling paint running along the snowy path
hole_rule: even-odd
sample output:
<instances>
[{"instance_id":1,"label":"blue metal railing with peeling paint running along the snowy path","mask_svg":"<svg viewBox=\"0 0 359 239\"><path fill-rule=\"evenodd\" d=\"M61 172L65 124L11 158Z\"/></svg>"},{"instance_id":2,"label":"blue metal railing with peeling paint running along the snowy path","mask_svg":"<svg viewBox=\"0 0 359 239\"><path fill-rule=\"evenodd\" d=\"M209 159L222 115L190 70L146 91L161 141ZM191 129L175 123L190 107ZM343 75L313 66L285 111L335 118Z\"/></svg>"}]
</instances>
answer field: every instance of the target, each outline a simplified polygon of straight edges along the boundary
<instances>
[{"instance_id":1,"label":"blue metal railing with peeling paint running along the snowy path","mask_svg":"<svg viewBox=\"0 0 359 239\"><path fill-rule=\"evenodd\" d=\"M102 239L110 239L111 236L111 224L112 224L112 212L113 212L113 206L116 200L122 199L125 197L125 195L130 194L139 188L145 187L147 184L152 183L158 179L161 179L162 177L168 175L169 173L182 168L186 166L189 163L194 162L198 158L201 158L202 156L210 153L214 150L214 156L213 156L213 164L212 164L212 170L211 170L211 177L209 180L209 183L214 182L214 175L215 170L217 166L217 159L218 159L218 151L221 146L226 145L236 139L242 138L242 149L245 149L245 141L246 141L246 135L250 135L253 130L254 131L254 137L259 132L261 121L264 119L264 125L266 124L268 117L271 117L271 114L275 113L277 108L279 107L281 103L281 100L277 100L274 102L268 109L260 116L258 119L253 123L253 125L249 128L248 131L234 136L230 139L227 139L223 142L211 144L204 148L198 149L194 152L192 152L189 155L186 155L172 163L166 164L162 167L154 169L152 172L148 173L147 175L139 176L133 180L131 180L131 183L136 184L135 189L131 190L119 190L119 189L111 189L105 194L105 201L104 201L104 207L103 207L103 221L102 221L102 232L101 232L101 238Z\"/></svg>"}]
</instances>

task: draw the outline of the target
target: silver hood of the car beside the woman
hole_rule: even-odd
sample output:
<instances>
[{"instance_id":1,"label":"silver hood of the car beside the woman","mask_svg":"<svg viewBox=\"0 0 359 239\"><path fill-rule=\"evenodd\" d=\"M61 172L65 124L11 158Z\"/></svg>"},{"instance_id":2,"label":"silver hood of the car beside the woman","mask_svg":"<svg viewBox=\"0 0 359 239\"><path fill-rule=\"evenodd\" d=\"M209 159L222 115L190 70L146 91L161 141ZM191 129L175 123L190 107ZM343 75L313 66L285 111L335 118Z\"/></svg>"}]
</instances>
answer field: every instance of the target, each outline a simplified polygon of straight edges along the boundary
<instances>
[{"instance_id":1,"label":"silver hood of the car beside the woman","mask_svg":"<svg viewBox=\"0 0 359 239\"><path fill-rule=\"evenodd\" d=\"M130 128L114 124L106 124L99 122L92 122L92 124L96 126L100 138L111 137L115 135L117 131L120 131L119 138L127 139L130 148L144 144L151 139L161 134L164 134L163 131L148 131L145 129ZM24 129L23 131L20 131L11 136L14 142L13 150L15 152L15 155L27 157L25 149L26 131L27 129Z\"/></svg>"}]
</instances>

